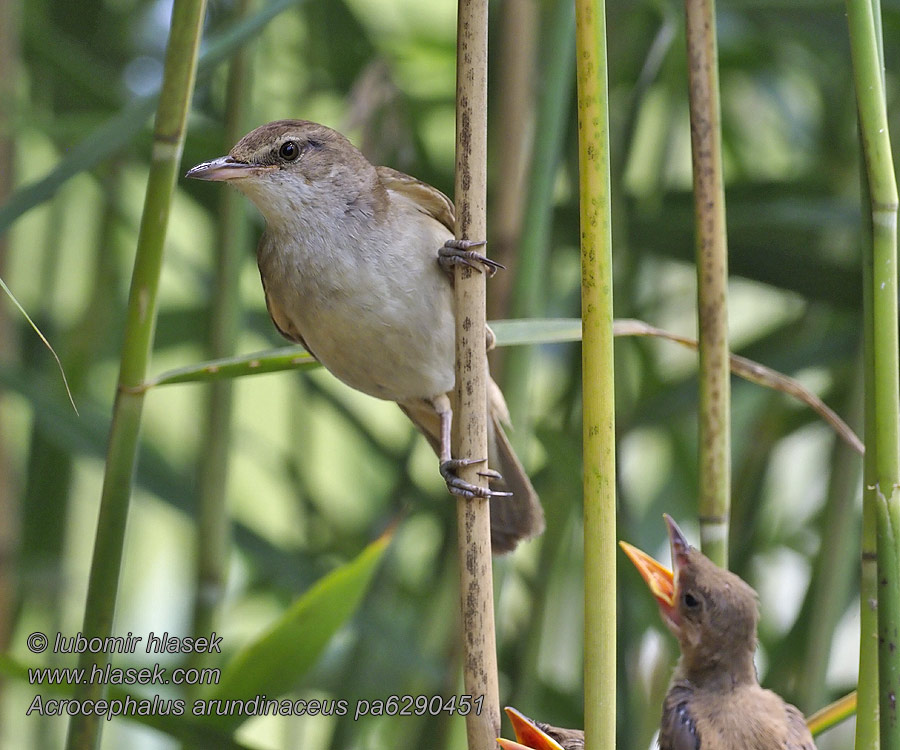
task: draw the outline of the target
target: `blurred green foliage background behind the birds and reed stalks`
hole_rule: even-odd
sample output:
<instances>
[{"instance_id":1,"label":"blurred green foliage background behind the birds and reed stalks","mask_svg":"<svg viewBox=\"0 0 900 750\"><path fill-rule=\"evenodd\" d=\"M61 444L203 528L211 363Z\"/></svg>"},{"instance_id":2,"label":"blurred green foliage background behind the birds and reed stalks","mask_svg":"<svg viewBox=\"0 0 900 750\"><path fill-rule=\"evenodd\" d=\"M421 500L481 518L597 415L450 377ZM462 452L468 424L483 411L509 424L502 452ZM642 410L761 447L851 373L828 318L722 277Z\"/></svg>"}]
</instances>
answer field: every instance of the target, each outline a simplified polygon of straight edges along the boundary
<instances>
[{"instance_id":1,"label":"blurred green foliage background behind the birds and reed stalks","mask_svg":"<svg viewBox=\"0 0 900 750\"><path fill-rule=\"evenodd\" d=\"M537 94L560 52L544 35L565 4L492 6L493 159L509 141L524 157L542 145L533 113L510 119L498 103L517 75L535 94L525 112L550 99ZM12 92L0 103L0 158L12 154L0 162L0 224L9 227L0 235L0 273L59 351L81 412L68 406L52 358L4 304L0 650L29 665L71 666L66 655L29 654L25 639L35 630L74 634L81 623L169 10L149 0L0 0L0 25L8 22L4 33L15 42L0 58L3 91ZM537 17L525 25L532 37L500 33L504 14L522 13ZM693 334L682 11L669 0L610 0L608 13L617 315ZM734 349L798 377L858 425L860 178L843 5L725 0L719 13ZM885 2L884 13L890 117L900 126L900 5ZM185 167L231 145L222 120L237 23L232 2L210 3ZM452 191L452 0L259 2L247 23L248 127L283 117L321 121L373 161ZM525 45L531 65L504 66L508 45ZM568 46L563 54L571 54ZM579 314L575 112L571 93L563 98L553 189L530 207L551 222L535 261L546 269L543 284L528 302L542 317ZM491 201L513 190L513 203L522 205L530 170L511 182L498 179L501 165L491 169ZM221 189L180 185L155 373L206 358ZM258 234L258 217L243 210ZM249 240L234 300L243 311L240 352L280 343L253 248ZM504 260L507 278L488 290L498 318L515 305L508 289L520 270L514 251ZM580 358L574 344L543 346L523 371L504 368L504 354L497 352L495 373L528 394L515 439L533 468L548 530L497 561L501 700L575 726ZM652 340L619 340L616 354L620 536L666 559L663 511L696 530L695 355ZM147 397L117 633L190 633L204 389L169 386ZM351 392L321 370L238 380L234 398L226 502L233 545L218 628L228 654L399 518L359 611L292 694L352 706L459 693L454 505L425 441L393 405ZM809 712L855 684L860 462L786 397L735 382L733 399L732 567L760 593L764 684ZM624 559L619 575L620 746L639 750L651 741L676 649ZM117 663L145 664L139 657ZM60 746L65 718L25 716L35 692L21 679L0 683L0 746ZM178 694L174 686L163 692ZM834 730L820 747L848 746L849 730ZM446 714L254 719L236 736L254 748L464 746L462 721ZM174 746L165 728L123 720L105 728L102 745Z\"/></svg>"}]
</instances>

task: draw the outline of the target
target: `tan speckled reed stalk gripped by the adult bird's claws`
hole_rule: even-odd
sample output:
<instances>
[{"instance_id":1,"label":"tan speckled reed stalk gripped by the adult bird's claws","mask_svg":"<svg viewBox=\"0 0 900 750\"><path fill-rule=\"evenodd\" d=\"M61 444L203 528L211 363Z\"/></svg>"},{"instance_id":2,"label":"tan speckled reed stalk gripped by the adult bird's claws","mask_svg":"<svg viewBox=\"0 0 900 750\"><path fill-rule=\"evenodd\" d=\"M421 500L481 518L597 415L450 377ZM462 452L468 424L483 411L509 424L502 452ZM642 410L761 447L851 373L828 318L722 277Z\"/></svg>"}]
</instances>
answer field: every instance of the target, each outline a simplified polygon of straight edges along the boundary
<instances>
[{"instance_id":1,"label":"tan speckled reed stalk gripped by the adult bird's claws","mask_svg":"<svg viewBox=\"0 0 900 750\"><path fill-rule=\"evenodd\" d=\"M487 0L460 0L456 58L456 236L487 236ZM485 274L457 266L454 456L487 457ZM481 486L482 464L460 476ZM494 750L500 732L497 646L494 633L490 505L458 498L460 604L465 692L483 697L480 713L466 716L469 750Z\"/></svg>"}]
</instances>

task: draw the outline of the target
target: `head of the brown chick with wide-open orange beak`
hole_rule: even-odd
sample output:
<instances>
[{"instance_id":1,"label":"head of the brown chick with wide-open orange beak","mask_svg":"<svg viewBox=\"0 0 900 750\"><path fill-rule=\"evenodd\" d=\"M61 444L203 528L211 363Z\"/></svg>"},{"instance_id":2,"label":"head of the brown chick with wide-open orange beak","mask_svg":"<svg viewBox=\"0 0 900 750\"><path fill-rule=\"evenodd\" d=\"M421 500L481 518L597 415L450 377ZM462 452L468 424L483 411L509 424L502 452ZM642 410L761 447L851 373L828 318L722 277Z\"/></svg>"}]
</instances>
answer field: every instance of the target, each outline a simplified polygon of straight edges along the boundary
<instances>
[{"instance_id":1,"label":"head of the brown chick with wide-open orange beak","mask_svg":"<svg viewBox=\"0 0 900 750\"><path fill-rule=\"evenodd\" d=\"M630 544L620 544L678 638L687 675L726 672L742 679L743 672L753 671L759 618L756 592L692 547L671 517L665 519L674 573Z\"/></svg>"}]
</instances>

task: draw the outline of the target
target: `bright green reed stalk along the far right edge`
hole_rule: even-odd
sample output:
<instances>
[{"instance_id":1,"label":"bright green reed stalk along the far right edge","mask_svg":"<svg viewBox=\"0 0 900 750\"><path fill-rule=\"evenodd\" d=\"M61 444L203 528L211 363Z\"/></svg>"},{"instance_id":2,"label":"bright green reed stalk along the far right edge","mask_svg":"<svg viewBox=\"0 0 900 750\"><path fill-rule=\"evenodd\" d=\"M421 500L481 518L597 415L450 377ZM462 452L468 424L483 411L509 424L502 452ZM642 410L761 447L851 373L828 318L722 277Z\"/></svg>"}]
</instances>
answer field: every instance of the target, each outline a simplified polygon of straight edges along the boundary
<instances>
[{"instance_id":1,"label":"bright green reed stalk along the far right edge","mask_svg":"<svg viewBox=\"0 0 900 750\"><path fill-rule=\"evenodd\" d=\"M878 639L868 636L871 613L863 600L860 658L860 709L871 736L873 663L878 653L880 747L900 748L900 357L897 342L897 181L885 105L880 55L880 19L871 0L847 0L850 49L856 86L859 128L866 164L872 237L863 251L866 282L866 471L864 488L863 573L867 572L872 519L876 541ZM863 586L871 594L871 572ZM866 680L863 683L863 680ZM859 745L858 745L859 746Z\"/></svg>"}]
</instances>

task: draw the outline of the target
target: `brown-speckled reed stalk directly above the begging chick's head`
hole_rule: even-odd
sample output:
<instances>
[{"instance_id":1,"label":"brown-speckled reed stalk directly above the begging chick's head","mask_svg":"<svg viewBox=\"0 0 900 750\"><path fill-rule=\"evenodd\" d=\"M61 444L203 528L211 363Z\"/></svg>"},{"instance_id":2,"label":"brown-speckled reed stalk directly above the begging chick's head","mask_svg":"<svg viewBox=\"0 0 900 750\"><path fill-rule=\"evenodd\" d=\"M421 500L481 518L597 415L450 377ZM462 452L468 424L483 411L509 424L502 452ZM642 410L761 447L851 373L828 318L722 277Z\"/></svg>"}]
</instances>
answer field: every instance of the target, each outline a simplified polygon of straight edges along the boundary
<instances>
[{"instance_id":1,"label":"brown-speckled reed stalk directly above the begging chick's head","mask_svg":"<svg viewBox=\"0 0 900 750\"><path fill-rule=\"evenodd\" d=\"M700 339L700 544L707 557L727 567L731 382L715 0L685 0L685 11Z\"/></svg>"}]
</instances>

